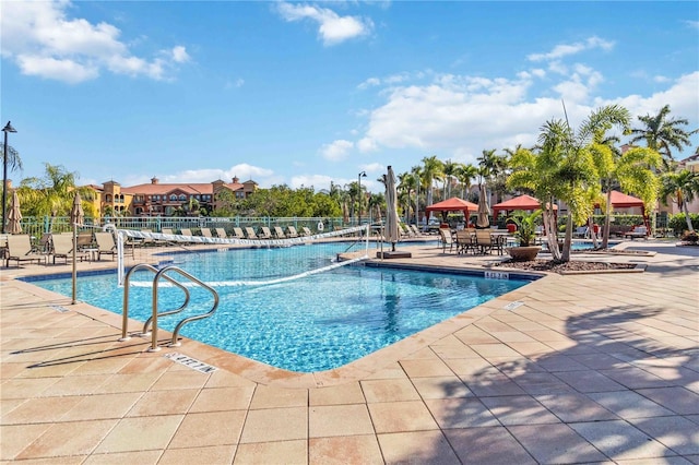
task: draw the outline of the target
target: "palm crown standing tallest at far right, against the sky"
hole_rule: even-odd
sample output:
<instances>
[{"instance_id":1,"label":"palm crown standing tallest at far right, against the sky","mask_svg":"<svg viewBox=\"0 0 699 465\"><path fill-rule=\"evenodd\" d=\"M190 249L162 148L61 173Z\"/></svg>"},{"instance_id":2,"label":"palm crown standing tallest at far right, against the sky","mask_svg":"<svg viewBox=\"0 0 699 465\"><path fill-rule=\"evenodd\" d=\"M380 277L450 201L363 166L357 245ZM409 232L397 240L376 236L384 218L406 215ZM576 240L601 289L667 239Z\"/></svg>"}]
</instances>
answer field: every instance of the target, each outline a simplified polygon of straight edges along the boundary
<instances>
[{"instance_id":1,"label":"palm crown standing tallest at far right, against the sky","mask_svg":"<svg viewBox=\"0 0 699 465\"><path fill-rule=\"evenodd\" d=\"M629 141L631 144L638 141L645 141L649 148L660 152L666 165L672 164L674 160L671 147L682 152L686 145L691 144L690 135L697 132L697 130L687 132L680 128L680 126L689 124L687 119L668 118L668 115L670 105L665 105L655 116L638 117L644 127L631 129L630 134L633 136Z\"/></svg>"}]
</instances>

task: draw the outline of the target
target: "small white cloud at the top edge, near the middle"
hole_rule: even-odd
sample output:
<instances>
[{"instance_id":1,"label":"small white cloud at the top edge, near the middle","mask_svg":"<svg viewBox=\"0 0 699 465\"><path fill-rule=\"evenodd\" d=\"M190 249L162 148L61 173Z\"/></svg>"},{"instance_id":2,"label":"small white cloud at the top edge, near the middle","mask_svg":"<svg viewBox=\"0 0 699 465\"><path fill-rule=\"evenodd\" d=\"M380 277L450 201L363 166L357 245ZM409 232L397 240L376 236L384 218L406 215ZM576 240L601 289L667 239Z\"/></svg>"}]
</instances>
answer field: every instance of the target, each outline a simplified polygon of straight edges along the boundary
<instances>
[{"instance_id":1,"label":"small white cloud at the top edge, near the middle","mask_svg":"<svg viewBox=\"0 0 699 465\"><path fill-rule=\"evenodd\" d=\"M340 16L327 8L282 2L277 11L288 22L311 20L318 23L318 35L325 46L366 36L374 29L374 22L369 19Z\"/></svg>"}]
</instances>

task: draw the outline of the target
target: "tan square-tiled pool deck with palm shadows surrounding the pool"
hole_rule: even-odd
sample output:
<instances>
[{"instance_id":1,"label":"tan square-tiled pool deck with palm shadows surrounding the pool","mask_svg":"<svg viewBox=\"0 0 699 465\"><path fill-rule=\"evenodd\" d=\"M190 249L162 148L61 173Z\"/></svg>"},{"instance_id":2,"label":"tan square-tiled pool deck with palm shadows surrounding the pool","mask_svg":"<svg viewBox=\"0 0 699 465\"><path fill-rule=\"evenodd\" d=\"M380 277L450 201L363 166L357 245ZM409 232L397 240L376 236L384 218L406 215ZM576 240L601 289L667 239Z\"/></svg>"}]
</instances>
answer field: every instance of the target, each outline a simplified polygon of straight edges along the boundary
<instances>
[{"instance_id":1,"label":"tan square-tiled pool deck with palm shadows surrounding the pool","mask_svg":"<svg viewBox=\"0 0 699 465\"><path fill-rule=\"evenodd\" d=\"M70 266L2 269L0 458L698 464L699 250L624 247L656 253L580 255L648 267L549 275L313 374L190 341L147 353L150 339L117 341L120 317L13 279ZM410 263L436 266L497 260L412 251ZM217 370L199 372L168 353Z\"/></svg>"}]
</instances>

